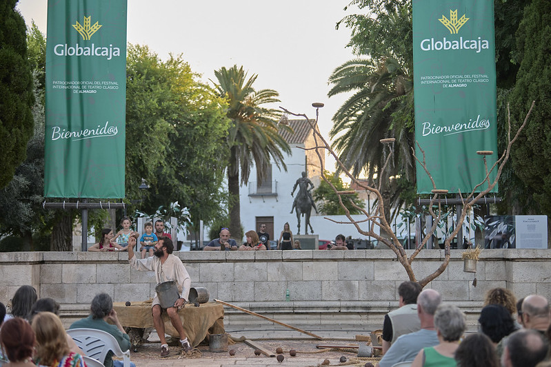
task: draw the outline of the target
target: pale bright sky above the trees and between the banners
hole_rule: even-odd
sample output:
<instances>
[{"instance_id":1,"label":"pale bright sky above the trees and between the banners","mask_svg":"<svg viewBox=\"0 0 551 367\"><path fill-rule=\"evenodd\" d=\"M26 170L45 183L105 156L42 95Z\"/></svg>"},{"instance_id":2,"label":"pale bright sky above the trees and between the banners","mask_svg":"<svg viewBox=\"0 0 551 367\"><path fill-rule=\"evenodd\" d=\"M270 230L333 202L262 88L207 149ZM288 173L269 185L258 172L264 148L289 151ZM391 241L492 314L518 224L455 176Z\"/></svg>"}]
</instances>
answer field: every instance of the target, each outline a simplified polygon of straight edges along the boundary
<instances>
[{"instance_id":1,"label":"pale bright sky above the trees and between the banners","mask_svg":"<svg viewBox=\"0 0 551 367\"><path fill-rule=\"evenodd\" d=\"M315 118L328 139L331 117L345 95L328 98L332 71L354 57L350 30L338 21L351 11L350 0L128 0L127 41L148 45L161 59L183 54L201 80L215 80L214 70L243 65L257 74L255 89L279 92L281 103L271 106ZM26 23L34 21L46 34L48 1L19 0ZM356 9L357 10L357 9ZM210 83L212 85L212 83ZM326 160L334 171L334 160Z\"/></svg>"}]
</instances>

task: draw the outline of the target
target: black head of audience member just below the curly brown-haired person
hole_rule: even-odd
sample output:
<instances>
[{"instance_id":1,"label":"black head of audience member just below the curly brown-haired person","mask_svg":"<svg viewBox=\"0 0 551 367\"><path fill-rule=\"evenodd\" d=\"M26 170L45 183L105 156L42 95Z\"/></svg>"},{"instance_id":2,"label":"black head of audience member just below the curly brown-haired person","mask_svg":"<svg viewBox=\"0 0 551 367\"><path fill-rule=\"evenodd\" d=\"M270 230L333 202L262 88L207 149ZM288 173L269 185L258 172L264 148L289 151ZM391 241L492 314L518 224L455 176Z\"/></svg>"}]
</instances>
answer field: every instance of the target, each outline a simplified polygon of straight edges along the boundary
<instances>
[{"instance_id":1,"label":"black head of audience member just below the curly brown-haired person","mask_svg":"<svg viewBox=\"0 0 551 367\"><path fill-rule=\"evenodd\" d=\"M482 333L490 337L494 346L497 346L503 337L517 330L511 314L500 304L489 304L482 308L479 324Z\"/></svg>"}]
</instances>

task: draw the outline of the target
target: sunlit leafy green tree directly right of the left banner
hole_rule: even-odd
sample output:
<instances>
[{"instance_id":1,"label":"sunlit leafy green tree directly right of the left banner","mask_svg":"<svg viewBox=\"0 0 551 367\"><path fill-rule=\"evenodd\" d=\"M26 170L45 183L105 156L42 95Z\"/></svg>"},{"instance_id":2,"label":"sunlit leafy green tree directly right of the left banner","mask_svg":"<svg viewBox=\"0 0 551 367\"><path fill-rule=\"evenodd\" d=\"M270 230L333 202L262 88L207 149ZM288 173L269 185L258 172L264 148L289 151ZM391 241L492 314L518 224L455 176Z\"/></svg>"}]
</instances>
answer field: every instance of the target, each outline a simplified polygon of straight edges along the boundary
<instances>
[{"instance_id":1,"label":"sunlit leafy green tree directly right of the left banner","mask_svg":"<svg viewBox=\"0 0 551 367\"><path fill-rule=\"evenodd\" d=\"M145 211L181 202L196 226L219 217L227 199L226 101L181 55L163 62L146 46L130 45L127 65L127 196L140 198L145 178Z\"/></svg>"}]
</instances>

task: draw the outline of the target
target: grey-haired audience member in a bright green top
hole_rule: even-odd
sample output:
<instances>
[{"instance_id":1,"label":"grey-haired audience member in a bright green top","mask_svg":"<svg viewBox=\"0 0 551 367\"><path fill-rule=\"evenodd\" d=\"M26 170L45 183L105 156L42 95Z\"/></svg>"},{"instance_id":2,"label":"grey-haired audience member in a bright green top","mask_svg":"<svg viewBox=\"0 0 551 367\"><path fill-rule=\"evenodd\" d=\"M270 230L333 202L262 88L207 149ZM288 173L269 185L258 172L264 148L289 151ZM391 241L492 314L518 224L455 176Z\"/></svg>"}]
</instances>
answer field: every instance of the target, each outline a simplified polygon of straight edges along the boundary
<instances>
[{"instance_id":1,"label":"grey-haired audience member in a bright green top","mask_svg":"<svg viewBox=\"0 0 551 367\"><path fill-rule=\"evenodd\" d=\"M457 366L454 353L459 347L459 339L465 332L465 315L452 304L441 304L434 314L434 328L437 330L439 344L421 349L411 367Z\"/></svg>"}]
</instances>

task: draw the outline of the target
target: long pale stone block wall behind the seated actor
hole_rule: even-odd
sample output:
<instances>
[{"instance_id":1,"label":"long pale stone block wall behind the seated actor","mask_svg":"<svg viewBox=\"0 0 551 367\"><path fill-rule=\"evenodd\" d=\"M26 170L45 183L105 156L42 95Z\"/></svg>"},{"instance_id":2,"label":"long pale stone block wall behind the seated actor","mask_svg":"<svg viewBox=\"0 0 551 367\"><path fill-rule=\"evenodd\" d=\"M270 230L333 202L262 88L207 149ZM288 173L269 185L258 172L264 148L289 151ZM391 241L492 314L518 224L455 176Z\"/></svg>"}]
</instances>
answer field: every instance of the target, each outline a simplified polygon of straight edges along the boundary
<instances>
[{"instance_id":1,"label":"long pale stone block wall behind the seated actor","mask_svg":"<svg viewBox=\"0 0 551 367\"><path fill-rule=\"evenodd\" d=\"M294 324L381 324L398 305L398 286L407 276L390 250L356 251L191 251L175 253L192 278L218 299L281 322ZM414 260L418 279L441 264L442 250L422 251ZM476 322L488 289L507 287L517 297L551 291L551 251L485 250L476 273L463 272L461 251L440 277L428 284L445 301L460 306ZM0 253L0 301L31 284L40 297L62 304L62 316L88 314L92 297L110 294L115 302L154 295L154 274L130 269L127 253ZM285 302L289 290L290 302ZM329 317L330 316L330 317ZM226 309L226 324L264 323Z\"/></svg>"}]
</instances>

